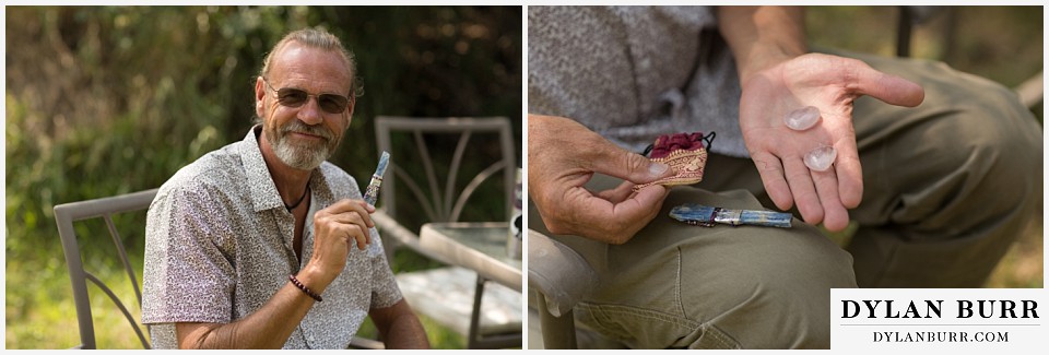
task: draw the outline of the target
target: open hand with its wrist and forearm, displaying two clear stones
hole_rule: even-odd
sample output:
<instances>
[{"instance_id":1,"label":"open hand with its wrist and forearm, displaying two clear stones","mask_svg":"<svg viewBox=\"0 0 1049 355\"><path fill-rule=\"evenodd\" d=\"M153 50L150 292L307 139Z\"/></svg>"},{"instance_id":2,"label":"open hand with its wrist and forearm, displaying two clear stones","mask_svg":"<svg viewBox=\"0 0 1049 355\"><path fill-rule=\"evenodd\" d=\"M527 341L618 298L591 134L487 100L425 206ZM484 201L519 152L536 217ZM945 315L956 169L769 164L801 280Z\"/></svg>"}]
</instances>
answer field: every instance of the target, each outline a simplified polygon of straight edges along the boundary
<instances>
[{"instance_id":1,"label":"open hand with its wrist and forearm, displaying two clear stones","mask_svg":"<svg viewBox=\"0 0 1049 355\"><path fill-rule=\"evenodd\" d=\"M804 24L802 8L718 8L718 29L732 48L743 88L743 141L765 190L776 206L797 204L805 222L841 230L849 224L846 209L859 205L863 197L852 100L871 95L917 106L924 92L859 60L805 55ZM816 126L800 132L787 128L783 115L805 106L820 109ZM828 170L811 171L803 158L821 145L834 147L837 159Z\"/></svg>"}]
</instances>

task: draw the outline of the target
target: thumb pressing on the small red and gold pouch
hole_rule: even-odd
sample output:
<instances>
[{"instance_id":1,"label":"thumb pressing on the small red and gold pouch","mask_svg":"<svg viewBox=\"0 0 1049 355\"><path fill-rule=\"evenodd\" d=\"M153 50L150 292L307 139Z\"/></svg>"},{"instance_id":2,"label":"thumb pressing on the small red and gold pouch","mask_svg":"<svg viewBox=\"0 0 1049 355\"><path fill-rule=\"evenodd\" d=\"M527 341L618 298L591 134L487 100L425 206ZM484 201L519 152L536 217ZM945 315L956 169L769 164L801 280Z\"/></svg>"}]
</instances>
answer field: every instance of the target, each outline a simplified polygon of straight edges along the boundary
<instances>
[{"instance_id":1,"label":"thumb pressing on the small red and gold pouch","mask_svg":"<svg viewBox=\"0 0 1049 355\"><path fill-rule=\"evenodd\" d=\"M591 168L596 173L617 177L634 184L656 181L663 177L673 176L670 165L656 163L647 157L606 142L604 149L599 150Z\"/></svg>"}]
</instances>

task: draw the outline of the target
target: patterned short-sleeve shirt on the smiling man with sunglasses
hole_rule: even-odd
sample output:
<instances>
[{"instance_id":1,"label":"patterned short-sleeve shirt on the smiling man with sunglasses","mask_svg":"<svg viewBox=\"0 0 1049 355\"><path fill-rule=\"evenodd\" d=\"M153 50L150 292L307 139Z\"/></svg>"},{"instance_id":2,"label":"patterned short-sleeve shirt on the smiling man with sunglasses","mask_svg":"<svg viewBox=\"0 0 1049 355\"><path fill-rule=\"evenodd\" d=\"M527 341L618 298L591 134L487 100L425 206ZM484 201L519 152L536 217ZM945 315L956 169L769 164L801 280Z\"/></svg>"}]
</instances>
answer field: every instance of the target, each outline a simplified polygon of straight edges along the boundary
<instances>
[{"instance_id":1,"label":"patterned short-sleeve shirt on the smiling man with sunglasses","mask_svg":"<svg viewBox=\"0 0 1049 355\"><path fill-rule=\"evenodd\" d=\"M325 162L313 171L303 262L293 248L295 217L270 177L254 127L243 141L208 153L165 182L146 221L142 322L153 345L177 347L175 322L228 323L262 307L313 253L313 214L361 199L356 181ZM285 348L345 348L372 308L392 306L400 289L375 228L365 250L314 304Z\"/></svg>"}]
</instances>

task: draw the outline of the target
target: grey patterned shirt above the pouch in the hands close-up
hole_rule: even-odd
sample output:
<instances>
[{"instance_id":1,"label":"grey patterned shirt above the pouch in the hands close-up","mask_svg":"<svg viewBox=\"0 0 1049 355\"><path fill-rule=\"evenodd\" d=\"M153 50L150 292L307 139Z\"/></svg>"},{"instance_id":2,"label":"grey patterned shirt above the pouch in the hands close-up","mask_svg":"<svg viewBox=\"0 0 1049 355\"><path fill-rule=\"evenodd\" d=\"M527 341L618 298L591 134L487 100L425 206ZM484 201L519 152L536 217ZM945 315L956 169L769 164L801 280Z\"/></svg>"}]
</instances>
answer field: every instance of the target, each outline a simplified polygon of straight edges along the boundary
<instances>
[{"instance_id":1,"label":"grey patterned shirt above the pouch in the hands close-up","mask_svg":"<svg viewBox=\"0 0 1049 355\"><path fill-rule=\"evenodd\" d=\"M711 7L528 7L528 110L571 118L627 150L718 133L749 156L740 83Z\"/></svg>"}]
</instances>

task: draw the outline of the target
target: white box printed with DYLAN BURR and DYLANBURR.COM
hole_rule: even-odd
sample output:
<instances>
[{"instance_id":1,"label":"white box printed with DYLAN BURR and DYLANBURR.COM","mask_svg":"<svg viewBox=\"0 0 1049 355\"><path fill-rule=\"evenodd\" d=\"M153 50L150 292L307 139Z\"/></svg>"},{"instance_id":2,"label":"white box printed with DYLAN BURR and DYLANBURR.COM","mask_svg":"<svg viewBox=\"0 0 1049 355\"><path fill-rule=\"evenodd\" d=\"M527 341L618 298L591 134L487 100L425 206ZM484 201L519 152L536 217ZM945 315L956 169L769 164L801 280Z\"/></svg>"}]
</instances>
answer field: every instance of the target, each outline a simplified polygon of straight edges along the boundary
<instances>
[{"instance_id":1,"label":"white box printed with DYLAN BURR and DYLANBURR.COM","mask_svg":"<svg viewBox=\"0 0 1049 355\"><path fill-rule=\"evenodd\" d=\"M1044 348L1047 295L1045 288L835 288L830 348Z\"/></svg>"}]
</instances>

